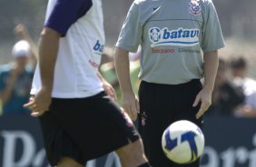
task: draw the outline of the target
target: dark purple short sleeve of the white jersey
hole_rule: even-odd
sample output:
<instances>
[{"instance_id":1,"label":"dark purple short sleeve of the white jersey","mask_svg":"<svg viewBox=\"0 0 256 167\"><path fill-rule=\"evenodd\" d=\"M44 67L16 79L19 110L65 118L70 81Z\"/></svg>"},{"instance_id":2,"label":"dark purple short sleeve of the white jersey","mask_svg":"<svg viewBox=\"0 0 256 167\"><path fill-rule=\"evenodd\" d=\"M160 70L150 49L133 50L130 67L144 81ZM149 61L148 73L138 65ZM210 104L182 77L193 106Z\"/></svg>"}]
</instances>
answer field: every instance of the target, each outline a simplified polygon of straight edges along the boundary
<instances>
[{"instance_id":1,"label":"dark purple short sleeve of the white jersey","mask_svg":"<svg viewBox=\"0 0 256 167\"><path fill-rule=\"evenodd\" d=\"M56 0L44 26L64 36L69 27L85 15L92 5L92 0Z\"/></svg>"}]
</instances>

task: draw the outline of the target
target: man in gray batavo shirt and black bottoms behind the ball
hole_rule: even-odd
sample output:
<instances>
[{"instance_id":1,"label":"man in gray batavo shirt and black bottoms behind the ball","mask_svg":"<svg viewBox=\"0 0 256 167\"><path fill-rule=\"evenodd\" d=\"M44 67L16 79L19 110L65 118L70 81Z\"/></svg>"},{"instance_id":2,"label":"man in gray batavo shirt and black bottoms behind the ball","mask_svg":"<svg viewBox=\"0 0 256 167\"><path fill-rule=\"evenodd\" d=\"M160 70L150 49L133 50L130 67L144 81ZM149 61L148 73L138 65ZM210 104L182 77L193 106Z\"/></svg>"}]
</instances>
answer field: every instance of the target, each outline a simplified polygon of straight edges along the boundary
<instances>
[{"instance_id":1,"label":"man in gray batavo shirt and black bottoms behind the ball","mask_svg":"<svg viewBox=\"0 0 256 167\"><path fill-rule=\"evenodd\" d=\"M128 53L142 45L139 100L133 93ZM224 47L218 15L211 0L135 0L123 23L114 62L123 108L139 131L150 162L180 166L161 146L164 129L178 120L202 127L212 103L218 49ZM204 83L200 79L204 78ZM198 167L199 160L182 167Z\"/></svg>"}]
</instances>

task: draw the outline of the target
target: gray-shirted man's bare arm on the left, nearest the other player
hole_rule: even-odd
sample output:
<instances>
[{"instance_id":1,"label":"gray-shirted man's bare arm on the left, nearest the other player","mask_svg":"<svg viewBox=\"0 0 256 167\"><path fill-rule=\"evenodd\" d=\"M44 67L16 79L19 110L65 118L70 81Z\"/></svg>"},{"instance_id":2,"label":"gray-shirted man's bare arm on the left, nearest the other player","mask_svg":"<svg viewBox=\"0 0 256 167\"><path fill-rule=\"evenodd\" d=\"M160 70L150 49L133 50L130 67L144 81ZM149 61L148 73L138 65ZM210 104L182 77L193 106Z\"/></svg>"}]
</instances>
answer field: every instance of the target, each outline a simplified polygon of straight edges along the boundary
<instances>
[{"instance_id":1,"label":"gray-shirted man's bare arm on the left, nearest the other player","mask_svg":"<svg viewBox=\"0 0 256 167\"><path fill-rule=\"evenodd\" d=\"M140 106L137 97L133 93L128 54L128 51L116 47L113 60L123 95L123 109L134 121L137 119L137 113L140 111Z\"/></svg>"}]
</instances>

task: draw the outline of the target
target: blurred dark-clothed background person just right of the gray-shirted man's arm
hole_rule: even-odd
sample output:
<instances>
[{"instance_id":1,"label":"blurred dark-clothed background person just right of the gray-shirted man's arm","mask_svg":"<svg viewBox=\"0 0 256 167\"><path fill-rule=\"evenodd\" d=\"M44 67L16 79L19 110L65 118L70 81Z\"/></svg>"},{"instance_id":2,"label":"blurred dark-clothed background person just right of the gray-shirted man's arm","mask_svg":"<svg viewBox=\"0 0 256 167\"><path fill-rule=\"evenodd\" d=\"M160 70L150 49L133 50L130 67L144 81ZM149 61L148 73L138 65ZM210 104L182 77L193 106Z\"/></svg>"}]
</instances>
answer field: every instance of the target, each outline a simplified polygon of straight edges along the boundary
<instances>
[{"instance_id":1,"label":"blurred dark-clothed background person just right of the gray-shirted man's arm","mask_svg":"<svg viewBox=\"0 0 256 167\"><path fill-rule=\"evenodd\" d=\"M228 68L229 64L220 58L208 115L233 116L236 107L244 101L242 88L231 82Z\"/></svg>"}]
</instances>

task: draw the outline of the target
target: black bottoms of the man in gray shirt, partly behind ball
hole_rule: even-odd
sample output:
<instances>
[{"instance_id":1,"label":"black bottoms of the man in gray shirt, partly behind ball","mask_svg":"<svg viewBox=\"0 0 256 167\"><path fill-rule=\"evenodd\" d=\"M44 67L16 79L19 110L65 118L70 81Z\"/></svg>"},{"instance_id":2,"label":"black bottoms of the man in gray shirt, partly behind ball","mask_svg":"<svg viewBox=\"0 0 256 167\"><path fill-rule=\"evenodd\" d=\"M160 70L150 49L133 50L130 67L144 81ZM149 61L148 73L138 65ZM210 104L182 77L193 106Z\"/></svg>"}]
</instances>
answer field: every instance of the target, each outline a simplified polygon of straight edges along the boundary
<instances>
[{"instance_id":1,"label":"black bottoms of the man in gray shirt, partly behind ball","mask_svg":"<svg viewBox=\"0 0 256 167\"><path fill-rule=\"evenodd\" d=\"M162 152L162 133L173 122L189 120L202 127L202 118L195 114L200 105L192 107L197 93L202 90L200 80L177 85L142 82L139 89L139 132L142 135L146 155L157 167L199 167L199 161L178 165Z\"/></svg>"}]
</instances>

